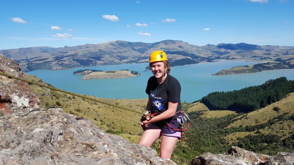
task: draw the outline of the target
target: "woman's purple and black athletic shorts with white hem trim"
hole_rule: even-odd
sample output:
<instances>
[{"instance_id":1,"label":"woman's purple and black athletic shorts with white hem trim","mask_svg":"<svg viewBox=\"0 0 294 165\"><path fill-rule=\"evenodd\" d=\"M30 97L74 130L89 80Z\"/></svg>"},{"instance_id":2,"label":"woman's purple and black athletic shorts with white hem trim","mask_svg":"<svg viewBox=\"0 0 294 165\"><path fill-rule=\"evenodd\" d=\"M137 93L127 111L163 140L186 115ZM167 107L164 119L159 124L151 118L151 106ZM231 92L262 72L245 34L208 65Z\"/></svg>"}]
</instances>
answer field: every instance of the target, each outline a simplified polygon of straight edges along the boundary
<instances>
[{"instance_id":1,"label":"woman's purple and black athletic shorts with white hem trim","mask_svg":"<svg viewBox=\"0 0 294 165\"><path fill-rule=\"evenodd\" d=\"M171 120L172 123L177 123L178 120ZM161 128L161 134L164 136L169 136L169 137L177 137L178 139L181 139L181 131L175 131L173 129L171 129L170 127L168 127L168 125L166 125L165 122L163 121L159 121L159 122L155 122L155 123L151 123L154 124L156 126L158 126L159 128ZM170 124L171 127L178 129L178 127L176 125ZM145 129L148 130L148 127Z\"/></svg>"}]
</instances>

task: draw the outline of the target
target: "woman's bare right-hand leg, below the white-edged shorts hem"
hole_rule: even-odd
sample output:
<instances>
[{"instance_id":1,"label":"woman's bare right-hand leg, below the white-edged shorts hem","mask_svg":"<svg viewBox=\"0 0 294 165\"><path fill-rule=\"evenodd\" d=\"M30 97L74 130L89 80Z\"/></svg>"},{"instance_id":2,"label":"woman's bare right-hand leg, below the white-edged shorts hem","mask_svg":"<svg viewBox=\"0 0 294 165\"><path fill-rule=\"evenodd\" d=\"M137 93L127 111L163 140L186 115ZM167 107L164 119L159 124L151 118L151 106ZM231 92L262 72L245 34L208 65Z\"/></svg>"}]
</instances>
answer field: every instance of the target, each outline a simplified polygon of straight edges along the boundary
<instances>
[{"instance_id":1,"label":"woman's bare right-hand leg, below the white-edged shorts hem","mask_svg":"<svg viewBox=\"0 0 294 165\"><path fill-rule=\"evenodd\" d=\"M164 159L171 159L171 154L173 153L173 149L175 149L177 142L177 137L162 135L160 145L160 157Z\"/></svg>"}]
</instances>

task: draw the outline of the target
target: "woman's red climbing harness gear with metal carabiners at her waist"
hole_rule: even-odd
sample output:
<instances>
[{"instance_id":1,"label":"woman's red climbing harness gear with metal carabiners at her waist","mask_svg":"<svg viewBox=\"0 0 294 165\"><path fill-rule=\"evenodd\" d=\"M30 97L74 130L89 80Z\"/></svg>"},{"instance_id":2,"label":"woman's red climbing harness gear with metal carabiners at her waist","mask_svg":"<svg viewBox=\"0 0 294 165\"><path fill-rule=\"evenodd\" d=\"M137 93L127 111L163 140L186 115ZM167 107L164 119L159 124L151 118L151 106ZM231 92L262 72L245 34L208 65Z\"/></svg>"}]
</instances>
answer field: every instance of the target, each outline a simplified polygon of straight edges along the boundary
<instances>
[{"instance_id":1,"label":"woman's red climbing harness gear with metal carabiners at her waist","mask_svg":"<svg viewBox=\"0 0 294 165\"><path fill-rule=\"evenodd\" d=\"M187 140L187 138L186 138L186 135L185 135L184 131L186 131L188 129L188 127L190 125L190 119L188 118L188 116L186 115L186 113L184 113L182 110L180 111L180 113L181 113L181 115L179 115L179 116L178 115L175 115L177 117L177 121L178 121L177 123L173 123L173 122L169 122L168 123L166 121L164 121L164 122L171 129L173 129L175 131L181 131L181 141L182 142L185 142ZM147 118L147 117L148 118L153 118L156 115L158 115L158 113L151 114L151 111L146 111L145 112L145 115L143 115L142 118L141 118L141 122L144 120L144 118ZM185 124L184 123L184 120L187 122L187 127L186 128L184 128L184 124ZM171 127L171 124L176 125L178 127L178 129Z\"/></svg>"}]
</instances>

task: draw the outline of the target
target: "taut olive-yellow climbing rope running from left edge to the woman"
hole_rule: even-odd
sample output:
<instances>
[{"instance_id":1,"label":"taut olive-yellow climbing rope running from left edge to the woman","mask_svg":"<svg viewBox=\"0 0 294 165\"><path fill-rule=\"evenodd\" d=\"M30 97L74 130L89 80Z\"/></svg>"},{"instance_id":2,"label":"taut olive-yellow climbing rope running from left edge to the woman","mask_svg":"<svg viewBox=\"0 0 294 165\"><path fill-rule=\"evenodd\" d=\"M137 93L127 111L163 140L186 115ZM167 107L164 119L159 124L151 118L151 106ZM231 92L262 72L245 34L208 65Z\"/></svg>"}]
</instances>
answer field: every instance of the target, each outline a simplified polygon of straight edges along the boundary
<instances>
[{"instance_id":1,"label":"taut olive-yellow climbing rope running from left edge to the woman","mask_svg":"<svg viewBox=\"0 0 294 165\"><path fill-rule=\"evenodd\" d=\"M6 74L6 73L3 73L3 72L0 72L0 74L3 75L3 76L10 77L10 78L14 78L14 79L18 79L18 80L21 80L21 81L25 81L25 82L28 82L28 83L31 83L31 84L39 85L39 86L42 86L42 87L45 87L45 88L53 89L55 91L60 91L60 92L67 93L67 94L70 94L70 95L74 95L74 96L78 96L78 97L85 98L85 99L88 99L88 100L96 101L98 103L106 104L108 106L113 106L113 107L116 107L116 108L121 108L121 109L128 110L128 111L131 111L131 112L134 112L134 113L139 113L141 115L145 115L145 113L137 112L135 110L131 110L131 109L128 109L128 108L122 108L122 107L116 106L114 104L106 103L104 101L101 101L101 100L98 100L98 99L95 99L95 98L90 98L90 97L83 96L83 95L80 95L80 94L77 94L77 93L71 93L71 92L68 92L68 91L64 91L62 89L57 89L57 88L54 88L52 86L48 86L48 85L36 83L34 81L30 81L30 80L23 79L23 78L20 78L20 77L12 76L10 74Z\"/></svg>"}]
</instances>

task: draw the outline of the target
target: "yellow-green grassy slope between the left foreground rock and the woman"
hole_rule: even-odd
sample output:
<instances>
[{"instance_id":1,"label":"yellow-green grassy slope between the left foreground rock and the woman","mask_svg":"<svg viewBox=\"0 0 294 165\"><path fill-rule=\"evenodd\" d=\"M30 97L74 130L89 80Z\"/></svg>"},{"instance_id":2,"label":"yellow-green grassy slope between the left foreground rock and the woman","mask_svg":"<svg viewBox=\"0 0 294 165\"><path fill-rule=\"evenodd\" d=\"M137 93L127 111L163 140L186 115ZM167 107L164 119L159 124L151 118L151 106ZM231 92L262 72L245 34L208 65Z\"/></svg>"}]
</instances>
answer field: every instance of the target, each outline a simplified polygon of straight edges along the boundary
<instances>
[{"instance_id":1,"label":"yellow-green grassy slope between the left foreground rock and the woman","mask_svg":"<svg viewBox=\"0 0 294 165\"><path fill-rule=\"evenodd\" d=\"M44 84L44 82L36 76L26 75L26 78L34 82ZM61 107L66 113L89 119L104 131L118 131L116 134L128 139L132 143L138 143L138 140L143 132L139 121L141 119L140 114L94 101L84 100L83 98L76 96L73 97L69 94L53 91L51 89L46 89L34 84L31 84L30 88L32 92L40 99L40 106L42 108L57 106L56 102L58 101L61 106L57 107ZM140 112L145 111L148 101L147 98L132 100L106 98L96 99L107 103L116 104L121 107L138 110Z\"/></svg>"}]
</instances>

